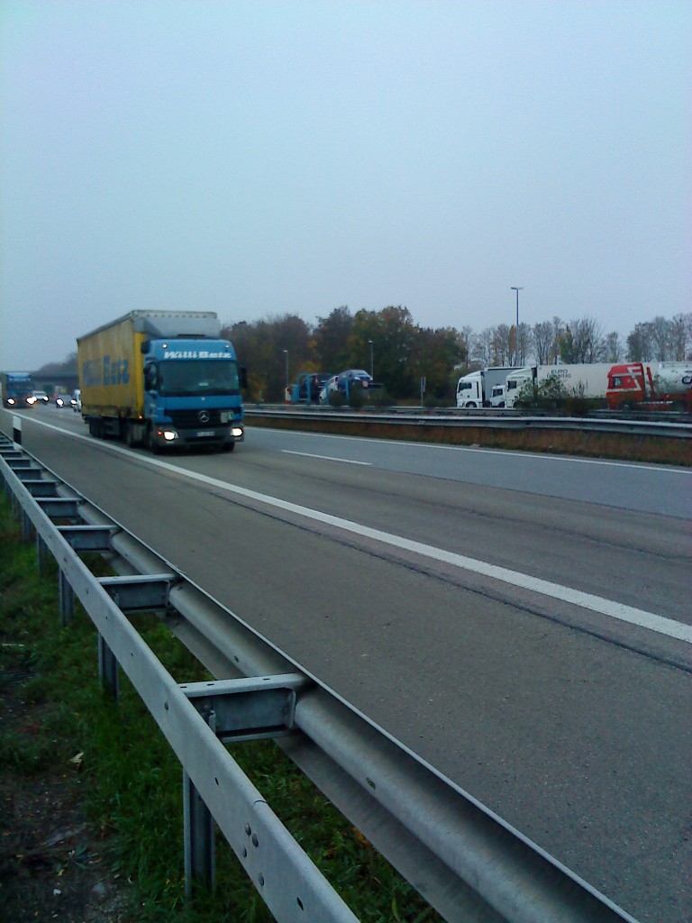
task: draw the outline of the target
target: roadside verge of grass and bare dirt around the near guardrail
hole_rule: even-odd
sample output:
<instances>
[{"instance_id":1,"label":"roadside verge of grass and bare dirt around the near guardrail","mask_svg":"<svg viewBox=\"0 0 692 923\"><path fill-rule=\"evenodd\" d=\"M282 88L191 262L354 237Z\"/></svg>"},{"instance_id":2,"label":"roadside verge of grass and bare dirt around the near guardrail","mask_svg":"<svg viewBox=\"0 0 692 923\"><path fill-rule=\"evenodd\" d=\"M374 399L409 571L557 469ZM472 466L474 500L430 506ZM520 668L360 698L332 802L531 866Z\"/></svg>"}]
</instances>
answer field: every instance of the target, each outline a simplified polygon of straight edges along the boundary
<instances>
[{"instance_id":1,"label":"roadside verge of grass and bare dirt around the near guardrail","mask_svg":"<svg viewBox=\"0 0 692 923\"><path fill-rule=\"evenodd\" d=\"M272 919L232 850L215 894L185 903L181 768L121 674L101 689L96 632L79 605L61 628L57 569L0 498L0 905L15 923L210 923ZM100 557L89 566L103 573ZM203 667L153 617L137 629L178 682ZM233 757L364 923L440 917L270 741Z\"/></svg>"}]
</instances>

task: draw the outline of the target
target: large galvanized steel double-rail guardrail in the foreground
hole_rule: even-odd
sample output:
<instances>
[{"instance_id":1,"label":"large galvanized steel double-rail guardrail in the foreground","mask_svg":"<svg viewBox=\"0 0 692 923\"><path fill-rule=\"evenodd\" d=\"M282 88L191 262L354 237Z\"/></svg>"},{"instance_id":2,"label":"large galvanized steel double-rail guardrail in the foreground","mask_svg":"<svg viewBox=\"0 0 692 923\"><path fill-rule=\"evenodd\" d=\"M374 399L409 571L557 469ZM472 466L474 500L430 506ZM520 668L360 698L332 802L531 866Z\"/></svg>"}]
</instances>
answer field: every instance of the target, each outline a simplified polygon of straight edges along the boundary
<instances>
[{"instance_id":1,"label":"large galvanized steel double-rail guardrail in the foreground","mask_svg":"<svg viewBox=\"0 0 692 923\"><path fill-rule=\"evenodd\" d=\"M278 737L450 923L636 923L2 434L0 475L39 560L48 551L57 560L63 619L77 596L99 632L104 682L116 694L117 665L125 671L181 761L188 890L213 879L216 821L280 923L356 919L222 742ZM117 556L123 576L94 577L79 557L85 549ZM212 674L237 678L177 684L125 617L142 606L165 606Z\"/></svg>"}]
</instances>

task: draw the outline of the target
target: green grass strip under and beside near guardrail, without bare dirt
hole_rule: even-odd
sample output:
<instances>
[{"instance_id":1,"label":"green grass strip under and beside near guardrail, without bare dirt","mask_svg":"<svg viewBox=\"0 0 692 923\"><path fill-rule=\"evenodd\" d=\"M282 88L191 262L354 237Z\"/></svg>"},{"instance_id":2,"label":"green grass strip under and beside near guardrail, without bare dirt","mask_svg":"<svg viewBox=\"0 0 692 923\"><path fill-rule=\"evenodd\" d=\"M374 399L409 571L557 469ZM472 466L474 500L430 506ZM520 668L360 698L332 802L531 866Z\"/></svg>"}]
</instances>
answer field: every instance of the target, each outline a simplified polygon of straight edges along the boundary
<instances>
[{"instance_id":1,"label":"green grass strip under and beside near guardrail, without bare dirt","mask_svg":"<svg viewBox=\"0 0 692 923\"><path fill-rule=\"evenodd\" d=\"M109 869L127 882L127 921L270 921L221 836L216 892L197 889L194 901L185 902L179 762L122 672L117 703L102 689L96 631L81 606L61 628L57 568L49 561L39 574L35 546L22 543L5 497L0 546L0 697L20 689L31 706L29 721L0 722L0 778L31 785L54 773L61 786L71 786L101 837ZM94 572L107 572L101 557L85 559ZM178 682L209 678L156 617L133 623ZM356 917L440 921L273 742L236 744L232 752Z\"/></svg>"}]
</instances>

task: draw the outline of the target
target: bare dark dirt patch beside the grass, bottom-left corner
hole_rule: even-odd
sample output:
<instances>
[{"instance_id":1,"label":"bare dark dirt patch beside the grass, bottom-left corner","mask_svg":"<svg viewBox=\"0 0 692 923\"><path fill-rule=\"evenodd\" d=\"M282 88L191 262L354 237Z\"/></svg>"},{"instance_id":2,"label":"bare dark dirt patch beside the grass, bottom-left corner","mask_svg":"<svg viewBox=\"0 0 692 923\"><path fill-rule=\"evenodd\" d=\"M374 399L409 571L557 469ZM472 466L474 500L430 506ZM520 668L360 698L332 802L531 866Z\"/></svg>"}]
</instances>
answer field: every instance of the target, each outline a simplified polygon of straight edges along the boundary
<instances>
[{"instance_id":1,"label":"bare dark dirt patch beside the grass, bottom-left corner","mask_svg":"<svg viewBox=\"0 0 692 923\"><path fill-rule=\"evenodd\" d=\"M42 706L26 700L24 671L4 669L0 723L16 752L50 733ZM43 763L47 763L43 765ZM3 762L0 770L0 906L13 923L128 923L129 888L107 863L109 831L89 823L80 757L40 769Z\"/></svg>"}]
</instances>

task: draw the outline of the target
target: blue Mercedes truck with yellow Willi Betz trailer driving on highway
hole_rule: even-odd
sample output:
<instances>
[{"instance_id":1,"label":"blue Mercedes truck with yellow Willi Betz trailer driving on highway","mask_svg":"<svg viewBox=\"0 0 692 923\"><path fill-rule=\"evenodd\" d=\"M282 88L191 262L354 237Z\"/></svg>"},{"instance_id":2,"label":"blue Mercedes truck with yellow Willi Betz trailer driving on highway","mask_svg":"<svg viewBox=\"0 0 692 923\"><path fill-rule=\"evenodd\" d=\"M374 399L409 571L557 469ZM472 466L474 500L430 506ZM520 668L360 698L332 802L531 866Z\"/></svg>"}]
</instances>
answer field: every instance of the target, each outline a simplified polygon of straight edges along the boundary
<instances>
[{"instance_id":1,"label":"blue Mercedes truck with yellow Willi Betz trailer driving on highway","mask_svg":"<svg viewBox=\"0 0 692 923\"><path fill-rule=\"evenodd\" d=\"M77 341L82 416L96 438L154 452L245 437L245 369L211 311L131 311Z\"/></svg>"}]
</instances>

